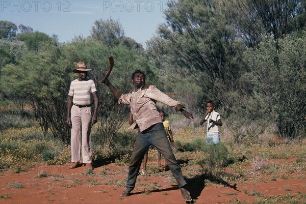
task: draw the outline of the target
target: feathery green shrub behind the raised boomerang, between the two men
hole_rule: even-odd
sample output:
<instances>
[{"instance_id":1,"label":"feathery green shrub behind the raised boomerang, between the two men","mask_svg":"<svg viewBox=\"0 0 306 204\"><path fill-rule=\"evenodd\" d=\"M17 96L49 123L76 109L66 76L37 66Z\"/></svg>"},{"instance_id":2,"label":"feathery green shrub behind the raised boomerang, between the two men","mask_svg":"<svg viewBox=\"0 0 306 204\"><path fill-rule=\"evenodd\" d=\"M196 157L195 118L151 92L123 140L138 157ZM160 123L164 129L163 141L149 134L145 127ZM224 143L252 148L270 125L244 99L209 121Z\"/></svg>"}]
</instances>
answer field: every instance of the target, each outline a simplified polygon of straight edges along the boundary
<instances>
[{"instance_id":1,"label":"feathery green shrub behind the raised boomerang, between the two men","mask_svg":"<svg viewBox=\"0 0 306 204\"><path fill-rule=\"evenodd\" d=\"M133 88L131 74L134 70L144 70L151 82L155 82L155 73L151 70L144 55L137 49L121 46L108 47L103 42L95 40L74 41L61 48L63 49L62 61L66 61L66 67L70 65L70 71L73 63L81 61L85 61L92 69L89 71L88 78L95 81L99 98L98 122L94 125L96 132L92 134L95 135L95 142L111 147L113 137L129 118L130 110L128 106L114 103L113 94L101 82L109 68L108 56L114 56L115 64L109 79L123 93L128 93Z\"/></svg>"}]
</instances>

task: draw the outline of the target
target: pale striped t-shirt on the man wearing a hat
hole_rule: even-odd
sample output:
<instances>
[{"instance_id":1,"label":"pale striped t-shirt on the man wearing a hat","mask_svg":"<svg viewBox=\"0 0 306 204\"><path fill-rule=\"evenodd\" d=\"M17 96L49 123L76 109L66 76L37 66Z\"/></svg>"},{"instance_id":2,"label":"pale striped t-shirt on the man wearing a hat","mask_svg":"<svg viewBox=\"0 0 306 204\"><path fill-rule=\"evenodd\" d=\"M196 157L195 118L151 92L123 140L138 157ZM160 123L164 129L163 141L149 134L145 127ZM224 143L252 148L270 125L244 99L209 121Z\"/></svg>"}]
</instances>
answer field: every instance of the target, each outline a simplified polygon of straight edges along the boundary
<instances>
[{"instance_id":1,"label":"pale striped t-shirt on the man wearing a hat","mask_svg":"<svg viewBox=\"0 0 306 204\"><path fill-rule=\"evenodd\" d=\"M96 92L95 84L92 79L79 81L75 79L71 81L68 96L72 96L72 103L76 105L89 105L91 104L92 93Z\"/></svg>"}]
</instances>

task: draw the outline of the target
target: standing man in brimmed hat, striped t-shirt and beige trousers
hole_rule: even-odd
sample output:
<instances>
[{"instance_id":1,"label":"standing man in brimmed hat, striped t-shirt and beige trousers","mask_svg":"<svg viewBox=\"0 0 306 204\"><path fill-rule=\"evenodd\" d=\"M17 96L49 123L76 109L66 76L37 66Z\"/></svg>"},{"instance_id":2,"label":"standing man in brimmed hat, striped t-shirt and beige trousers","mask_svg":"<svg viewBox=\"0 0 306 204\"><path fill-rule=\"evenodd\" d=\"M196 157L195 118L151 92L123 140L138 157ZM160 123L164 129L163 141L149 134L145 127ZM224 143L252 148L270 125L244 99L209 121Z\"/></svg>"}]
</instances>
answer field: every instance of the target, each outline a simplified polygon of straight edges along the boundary
<instances>
[{"instance_id":1,"label":"standing man in brimmed hat, striped t-shirt and beige trousers","mask_svg":"<svg viewBox=\"0 0 306 204\"><path fill-rule=\"evenodd\" d=\"M67 102L66 122L71 128L71 163L69 168L77 168L80 164L82 144L82 159L86 169L91 169L91 126L97 122L98 97L95 83L87 79L85 62L79 62L72 70L79 73L79 78L71 81ZM94 110L91 112L92 98ZM82 143L81 143L82 137Z\"/></svg>"}]
</instances>

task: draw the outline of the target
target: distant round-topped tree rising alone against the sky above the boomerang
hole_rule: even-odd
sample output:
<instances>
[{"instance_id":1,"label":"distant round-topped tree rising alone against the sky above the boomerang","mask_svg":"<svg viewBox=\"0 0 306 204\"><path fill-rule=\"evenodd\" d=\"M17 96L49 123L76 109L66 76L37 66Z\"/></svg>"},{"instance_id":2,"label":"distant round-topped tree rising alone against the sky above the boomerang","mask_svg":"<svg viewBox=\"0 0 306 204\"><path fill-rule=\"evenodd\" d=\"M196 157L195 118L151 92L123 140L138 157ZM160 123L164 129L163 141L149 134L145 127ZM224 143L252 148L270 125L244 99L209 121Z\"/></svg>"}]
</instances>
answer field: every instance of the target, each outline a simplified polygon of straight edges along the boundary
<instances>
[{"instance_id":1,"label":"distant round-topped tree rising alone against the sky above the boomerang","mask_svg":"<svg viewBox=\"0 0 306 204\"><path fill-rule=\"evenodd\" d=\"M104 42L108 46L118 45L119 39L124 36L121 24L112 18L96 20L90 33L93 39Z\"/></svg>"}]
</instances>

